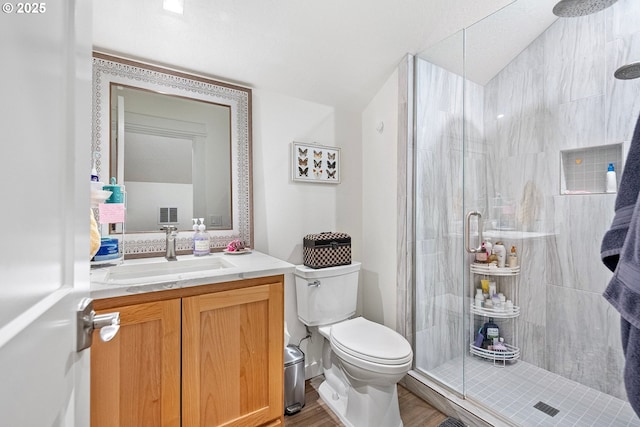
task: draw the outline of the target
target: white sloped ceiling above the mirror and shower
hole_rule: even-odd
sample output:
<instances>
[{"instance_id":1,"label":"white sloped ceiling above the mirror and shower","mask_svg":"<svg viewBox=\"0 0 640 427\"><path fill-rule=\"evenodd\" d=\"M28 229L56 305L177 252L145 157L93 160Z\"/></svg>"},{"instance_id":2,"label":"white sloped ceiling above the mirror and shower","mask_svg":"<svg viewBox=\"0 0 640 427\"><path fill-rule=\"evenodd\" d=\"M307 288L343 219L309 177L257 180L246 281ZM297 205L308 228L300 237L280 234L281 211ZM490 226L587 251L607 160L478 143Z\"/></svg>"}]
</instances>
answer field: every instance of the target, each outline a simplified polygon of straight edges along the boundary
<instances>
[{"instance_id":1,"label":"white sloped ceiling above the mirror and shower","mask_svg":"<svg viewBox=\"0 0 640 427\"><path fill-rule=\"evenodd\" d=\"M164 11L162 0L93 0L93 44L106 53L362 111L406 54L426 51L446 63L460 49L433 46L446 47L438 42L511 1L185 0L178 15ZM486 41L474 39L474 51L486 59L477 61L484 64L478 79L494 75L553 21L555 1L517 0L496 15L513 11L518 21L507 19L511 27L491 31Z\"/></svg>"}]
</instances>

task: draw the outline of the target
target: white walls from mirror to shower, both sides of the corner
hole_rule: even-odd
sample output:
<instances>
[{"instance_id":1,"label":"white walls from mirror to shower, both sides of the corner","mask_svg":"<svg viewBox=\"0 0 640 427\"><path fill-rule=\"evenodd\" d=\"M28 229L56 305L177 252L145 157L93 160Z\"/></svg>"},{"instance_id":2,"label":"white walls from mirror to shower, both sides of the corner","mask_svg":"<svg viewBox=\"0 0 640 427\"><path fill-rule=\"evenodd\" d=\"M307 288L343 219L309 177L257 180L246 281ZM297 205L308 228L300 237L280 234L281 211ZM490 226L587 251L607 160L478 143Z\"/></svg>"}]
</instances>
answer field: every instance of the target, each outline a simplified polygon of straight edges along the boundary
<instances>
[{"instance_id":1,"label":"white walls from mirror to shower, both sides of the corner","mask_svg":"<svg viewBox=\"0 0 640 427\"><path fill-rule=\"evenodd\" d=\"M282 94L253 91L254 240L258 251L302 264L305 234L336 230L352 239L362 261L358 314L395 328L398 72L363 113L337 111ZM376 131L383 121L383 133ZM291 143L341 148L342 182L291 179ZM295 281L285 278L285 321L291 341L306 335L297 318ZM322 340L302 344L307 377L318 373Z\"/></svg>"}]
</instances>

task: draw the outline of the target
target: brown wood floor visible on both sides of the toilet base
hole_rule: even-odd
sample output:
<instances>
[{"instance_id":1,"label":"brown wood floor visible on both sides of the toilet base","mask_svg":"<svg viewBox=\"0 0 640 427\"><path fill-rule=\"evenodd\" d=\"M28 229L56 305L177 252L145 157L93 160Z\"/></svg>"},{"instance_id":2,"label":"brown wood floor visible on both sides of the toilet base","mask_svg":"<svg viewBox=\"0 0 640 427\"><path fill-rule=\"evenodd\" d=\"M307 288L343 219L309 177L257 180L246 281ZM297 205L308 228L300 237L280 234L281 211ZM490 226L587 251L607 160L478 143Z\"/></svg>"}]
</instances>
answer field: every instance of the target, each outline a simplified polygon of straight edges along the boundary
<instances>
[{"instance_id":1,"label":"brown wood floor visible on both sides of the toilet base","mask_svg":"<svg viewBox=\"0 0 640 427\"><path fill-rule=\"evenodd\" d=\"M285 427L340 427L343 424L320 399L317 388L323 377L305 383L305 407L294 415L284 417ZM437 427L447 416L433 408L406 388L398 385L400 417L404 427Z\"/></svg>"}]
</instances>

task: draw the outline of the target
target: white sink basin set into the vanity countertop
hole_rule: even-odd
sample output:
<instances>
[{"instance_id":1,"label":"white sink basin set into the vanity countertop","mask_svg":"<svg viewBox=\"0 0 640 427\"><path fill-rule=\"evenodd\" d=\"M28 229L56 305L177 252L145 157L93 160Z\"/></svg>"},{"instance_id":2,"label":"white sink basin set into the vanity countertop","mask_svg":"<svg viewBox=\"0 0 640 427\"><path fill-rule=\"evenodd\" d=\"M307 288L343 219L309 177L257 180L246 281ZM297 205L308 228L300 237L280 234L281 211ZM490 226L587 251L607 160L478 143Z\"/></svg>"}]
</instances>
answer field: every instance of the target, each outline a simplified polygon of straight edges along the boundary
<instances>
[{"instance_id":1,"label":"white sink basin set into the vanity countertop","mask_svg":"<svg viewBox=\"0 0 640 427\"><path fill-rule=\"evenodd\" d=\"M111 267L105 276L107 283L149 283L191 279L203 272L232 268L235 265L219 256L125 264Z\"/></svg>"}]
</instances>

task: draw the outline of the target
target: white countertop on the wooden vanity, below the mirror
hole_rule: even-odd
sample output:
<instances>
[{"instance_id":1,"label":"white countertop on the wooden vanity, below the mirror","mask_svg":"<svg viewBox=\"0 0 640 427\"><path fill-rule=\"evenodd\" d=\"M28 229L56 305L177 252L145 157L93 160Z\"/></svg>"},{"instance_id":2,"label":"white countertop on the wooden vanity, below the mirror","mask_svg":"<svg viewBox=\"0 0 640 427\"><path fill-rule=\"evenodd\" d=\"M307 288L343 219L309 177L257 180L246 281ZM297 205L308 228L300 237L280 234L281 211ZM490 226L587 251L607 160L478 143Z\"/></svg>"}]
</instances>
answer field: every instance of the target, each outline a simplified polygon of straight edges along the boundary
<instances>
[{"instance_id":1,"label":"white countertop on the wooden vanity, below the mirror","mask_svg":"<svg viewBox=\"0 0 640 427\"><path fill-rule=\"evenodd\" d=\"M181 262L184 264L180 264ZM167 263L171 263L171 267L210 263L212 267L211 269L195 268L194 271L187 271L188 269L186 269L170 274L151 273L143 275L142 277L127 277L123 275L118 279L113 279L114 274L122 271L136 269L153 271L154 265L157 265L158 271L162 271L163 268L167 267ZM216 267L213 266L214 264L222 264L225 267ZM287 274L292 273L293 270L293 264L257 251L240 255L216 252L204 257L182 255L178 256L177 261L167 261L162 257L139 258L126 260L117 266L92 268L90 296L94 299L112 298L167 289L180 289L211 283Z\"/></svg>"}]
</instances>

